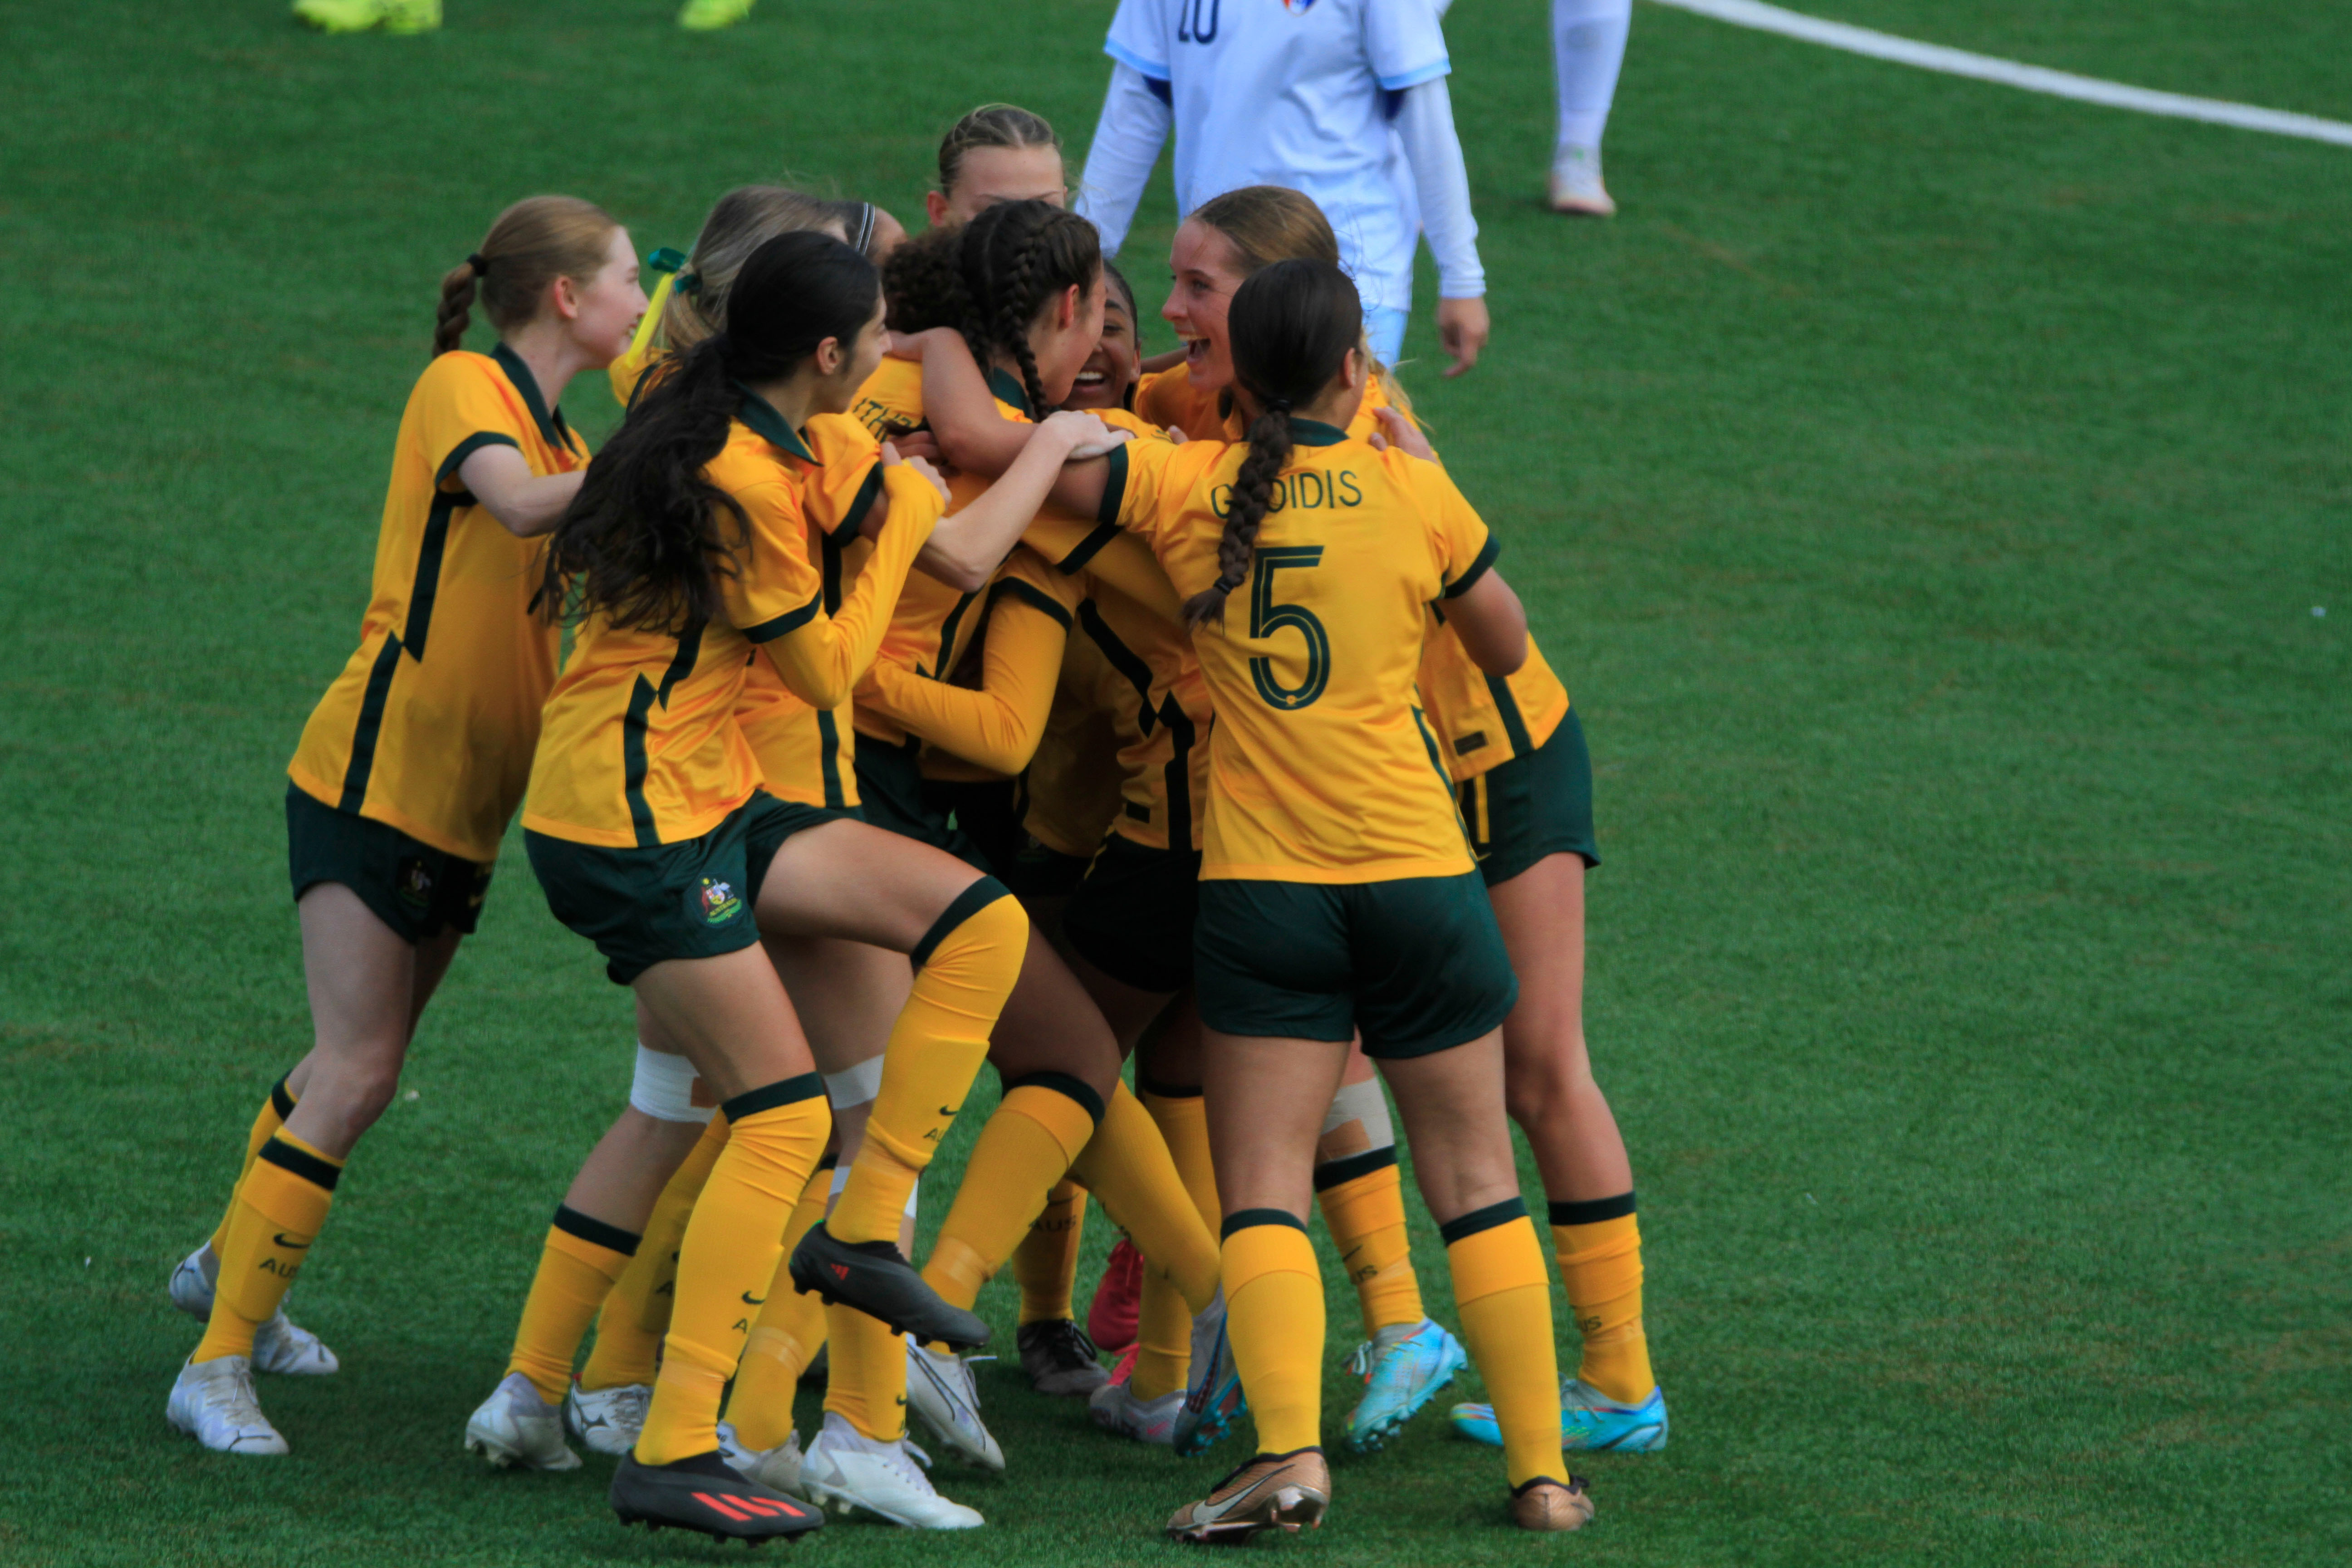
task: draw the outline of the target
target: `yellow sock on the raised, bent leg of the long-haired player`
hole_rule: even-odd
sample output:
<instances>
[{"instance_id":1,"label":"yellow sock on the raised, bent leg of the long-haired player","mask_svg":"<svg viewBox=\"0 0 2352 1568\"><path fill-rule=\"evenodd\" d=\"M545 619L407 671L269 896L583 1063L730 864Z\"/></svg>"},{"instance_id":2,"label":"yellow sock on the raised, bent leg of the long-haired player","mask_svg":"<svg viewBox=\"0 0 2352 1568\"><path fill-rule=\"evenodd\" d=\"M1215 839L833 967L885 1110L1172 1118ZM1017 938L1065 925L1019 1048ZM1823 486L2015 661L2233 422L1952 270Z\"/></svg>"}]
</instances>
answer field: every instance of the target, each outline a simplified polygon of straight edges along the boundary
<instances>
[{"instance_id":1,"label":"yellow sock on the raised, bent leg of the long-haired player","mask_svg":"<svg viewBox=\"0 0 2352 1568\"><path fill-rule=\"evenodd\" d=\"M882 1051L882 1093L826 1229L896 1241L906 1199L988 1060L988 1034L1028 952L1028 914L995 877L957 893L908 957L915 990ZM1028 1215L1021 1215L1023 1225Z\"/></svg>"}]
</instances>

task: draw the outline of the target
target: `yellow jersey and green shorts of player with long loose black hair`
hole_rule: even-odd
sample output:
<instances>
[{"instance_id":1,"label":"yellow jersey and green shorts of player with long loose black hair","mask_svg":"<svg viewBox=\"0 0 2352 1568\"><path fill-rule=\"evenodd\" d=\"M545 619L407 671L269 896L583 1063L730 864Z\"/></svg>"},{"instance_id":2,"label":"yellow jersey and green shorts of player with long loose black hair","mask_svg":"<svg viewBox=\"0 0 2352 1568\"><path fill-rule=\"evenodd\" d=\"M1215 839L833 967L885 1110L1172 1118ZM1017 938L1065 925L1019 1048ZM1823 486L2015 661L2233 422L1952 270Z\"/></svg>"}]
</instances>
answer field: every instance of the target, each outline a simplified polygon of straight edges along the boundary
<instances>
[{"instance_id":1,"label":"yellow jersey and green shorts of player with long loose black hair","mask_svg":"<svg viewBox=\"0 0 2352 1568\"><path fill-rule=\"evenodd\" d=\"M755 943L750 905L776 844L842 813L826 804L837 755L821 722L847 719L941 510L929 482L875 470L873 451L844 418L793 430L743 393L706 468L750 524L720 578L724 614L675 635L616 628L600 611L581 625L548 696L522 825L548 905L623 985L661 959ZM821 557L873 508L887 522L866 571L828 611ZM739 719L755 658L809 719L797 745L769 748L767 766ZM769 769L795 804L769 792Z\"/></svg>"}]
</instances>

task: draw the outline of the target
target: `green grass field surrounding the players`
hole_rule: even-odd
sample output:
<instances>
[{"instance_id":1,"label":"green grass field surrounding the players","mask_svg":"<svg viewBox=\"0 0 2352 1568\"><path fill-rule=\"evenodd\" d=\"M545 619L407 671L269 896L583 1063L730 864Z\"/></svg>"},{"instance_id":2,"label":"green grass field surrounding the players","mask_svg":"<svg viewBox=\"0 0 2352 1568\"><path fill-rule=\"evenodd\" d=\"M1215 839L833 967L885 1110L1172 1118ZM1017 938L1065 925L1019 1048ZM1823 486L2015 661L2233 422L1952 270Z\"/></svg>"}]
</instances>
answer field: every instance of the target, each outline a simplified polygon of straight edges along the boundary
<instances>
[{"instance_id":1,"label":"green grass field surrounding the players","mask_svg":"<svg viewBox=\"0 0 2352 1568\"><path fill-rule=\"evenodd\" d=\"M1804 2L2352 118L2340 9ZM346 1371L263 1385L292 1460L167 1429L165 1276L308 1044L282 766L353 644L435 280L501 205L682 247L788 174L920 221L976 101L1082 148L1110 9L769 0L687 38L670 0L449 0L435 38L327 40L278 0L7 5L0 1563L717 1559L614 1528L604 1462L459 1453L628 1072L515 844L296 1293ZM1536 1540L1425 1418L1284 1549L2352 1559L2352 150L1644 7L1625 214L1566 226L1543 19L1449 19L1496 346L1406 381L1592 738L1590 1030L1675 1441L1581 1465L1599 1523ZM1167 205L1127 252L1148 306ZM600 378L569 407L614 416ZM1009 1284L983 1307L1009 1328ZM1352 1298L1331 1324L1336 1420ZM1176 1559L1155 1526L1214 1460L983 1389L1014 1467L941 1479L985 1533L802 1552Z\"/></svg>"}]
</instances>

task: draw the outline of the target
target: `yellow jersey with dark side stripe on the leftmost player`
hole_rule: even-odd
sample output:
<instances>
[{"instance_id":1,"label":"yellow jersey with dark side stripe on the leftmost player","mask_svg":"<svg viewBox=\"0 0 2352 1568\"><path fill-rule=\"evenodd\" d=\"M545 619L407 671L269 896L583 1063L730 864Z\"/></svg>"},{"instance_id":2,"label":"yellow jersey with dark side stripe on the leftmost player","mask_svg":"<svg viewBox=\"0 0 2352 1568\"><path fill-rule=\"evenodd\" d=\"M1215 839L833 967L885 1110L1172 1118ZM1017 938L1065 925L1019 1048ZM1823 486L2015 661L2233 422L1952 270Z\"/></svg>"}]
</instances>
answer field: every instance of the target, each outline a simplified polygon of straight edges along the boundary
<instances>
[{"instance_id":1,"label":"yellow jersey with dark side stripe on the leftmost player","mask_svg":"<svg viewBox=\"0 0 2352 1568\"><path fill-rule=\"evenodd\" d=\"M529 614L539 541L508 534L456 477L482 447L517 449L534 475L588 461L503 343L426 367L393 444L360 646L287 776L325 806L489 863L532 776L557 639Z\"/></svg>"}]
</instances>

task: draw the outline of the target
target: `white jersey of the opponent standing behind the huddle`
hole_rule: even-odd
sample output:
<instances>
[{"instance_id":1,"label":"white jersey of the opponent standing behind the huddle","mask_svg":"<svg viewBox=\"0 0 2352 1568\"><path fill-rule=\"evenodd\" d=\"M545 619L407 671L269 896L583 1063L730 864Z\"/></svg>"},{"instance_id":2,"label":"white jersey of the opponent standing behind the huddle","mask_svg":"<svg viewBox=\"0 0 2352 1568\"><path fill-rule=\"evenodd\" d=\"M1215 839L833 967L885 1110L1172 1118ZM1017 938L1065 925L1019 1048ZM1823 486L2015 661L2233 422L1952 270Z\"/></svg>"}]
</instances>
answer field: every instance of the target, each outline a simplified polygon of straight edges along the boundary
<instances>
[{"instance_id":1,"label":"white jersey of the opponent standing behind the huddle","mask_svg":"<svg viewBox=\"0 0 2352 1568\"><path fill-rule=\"evenodd\" d=\"M1432 0L1120 0L1103 52L1167 82L1176 212L1240 186L1315 197L1367 310L1409 310L1416 223L1385 94L1446 75Z\"/></svg>"}]
</instances>

